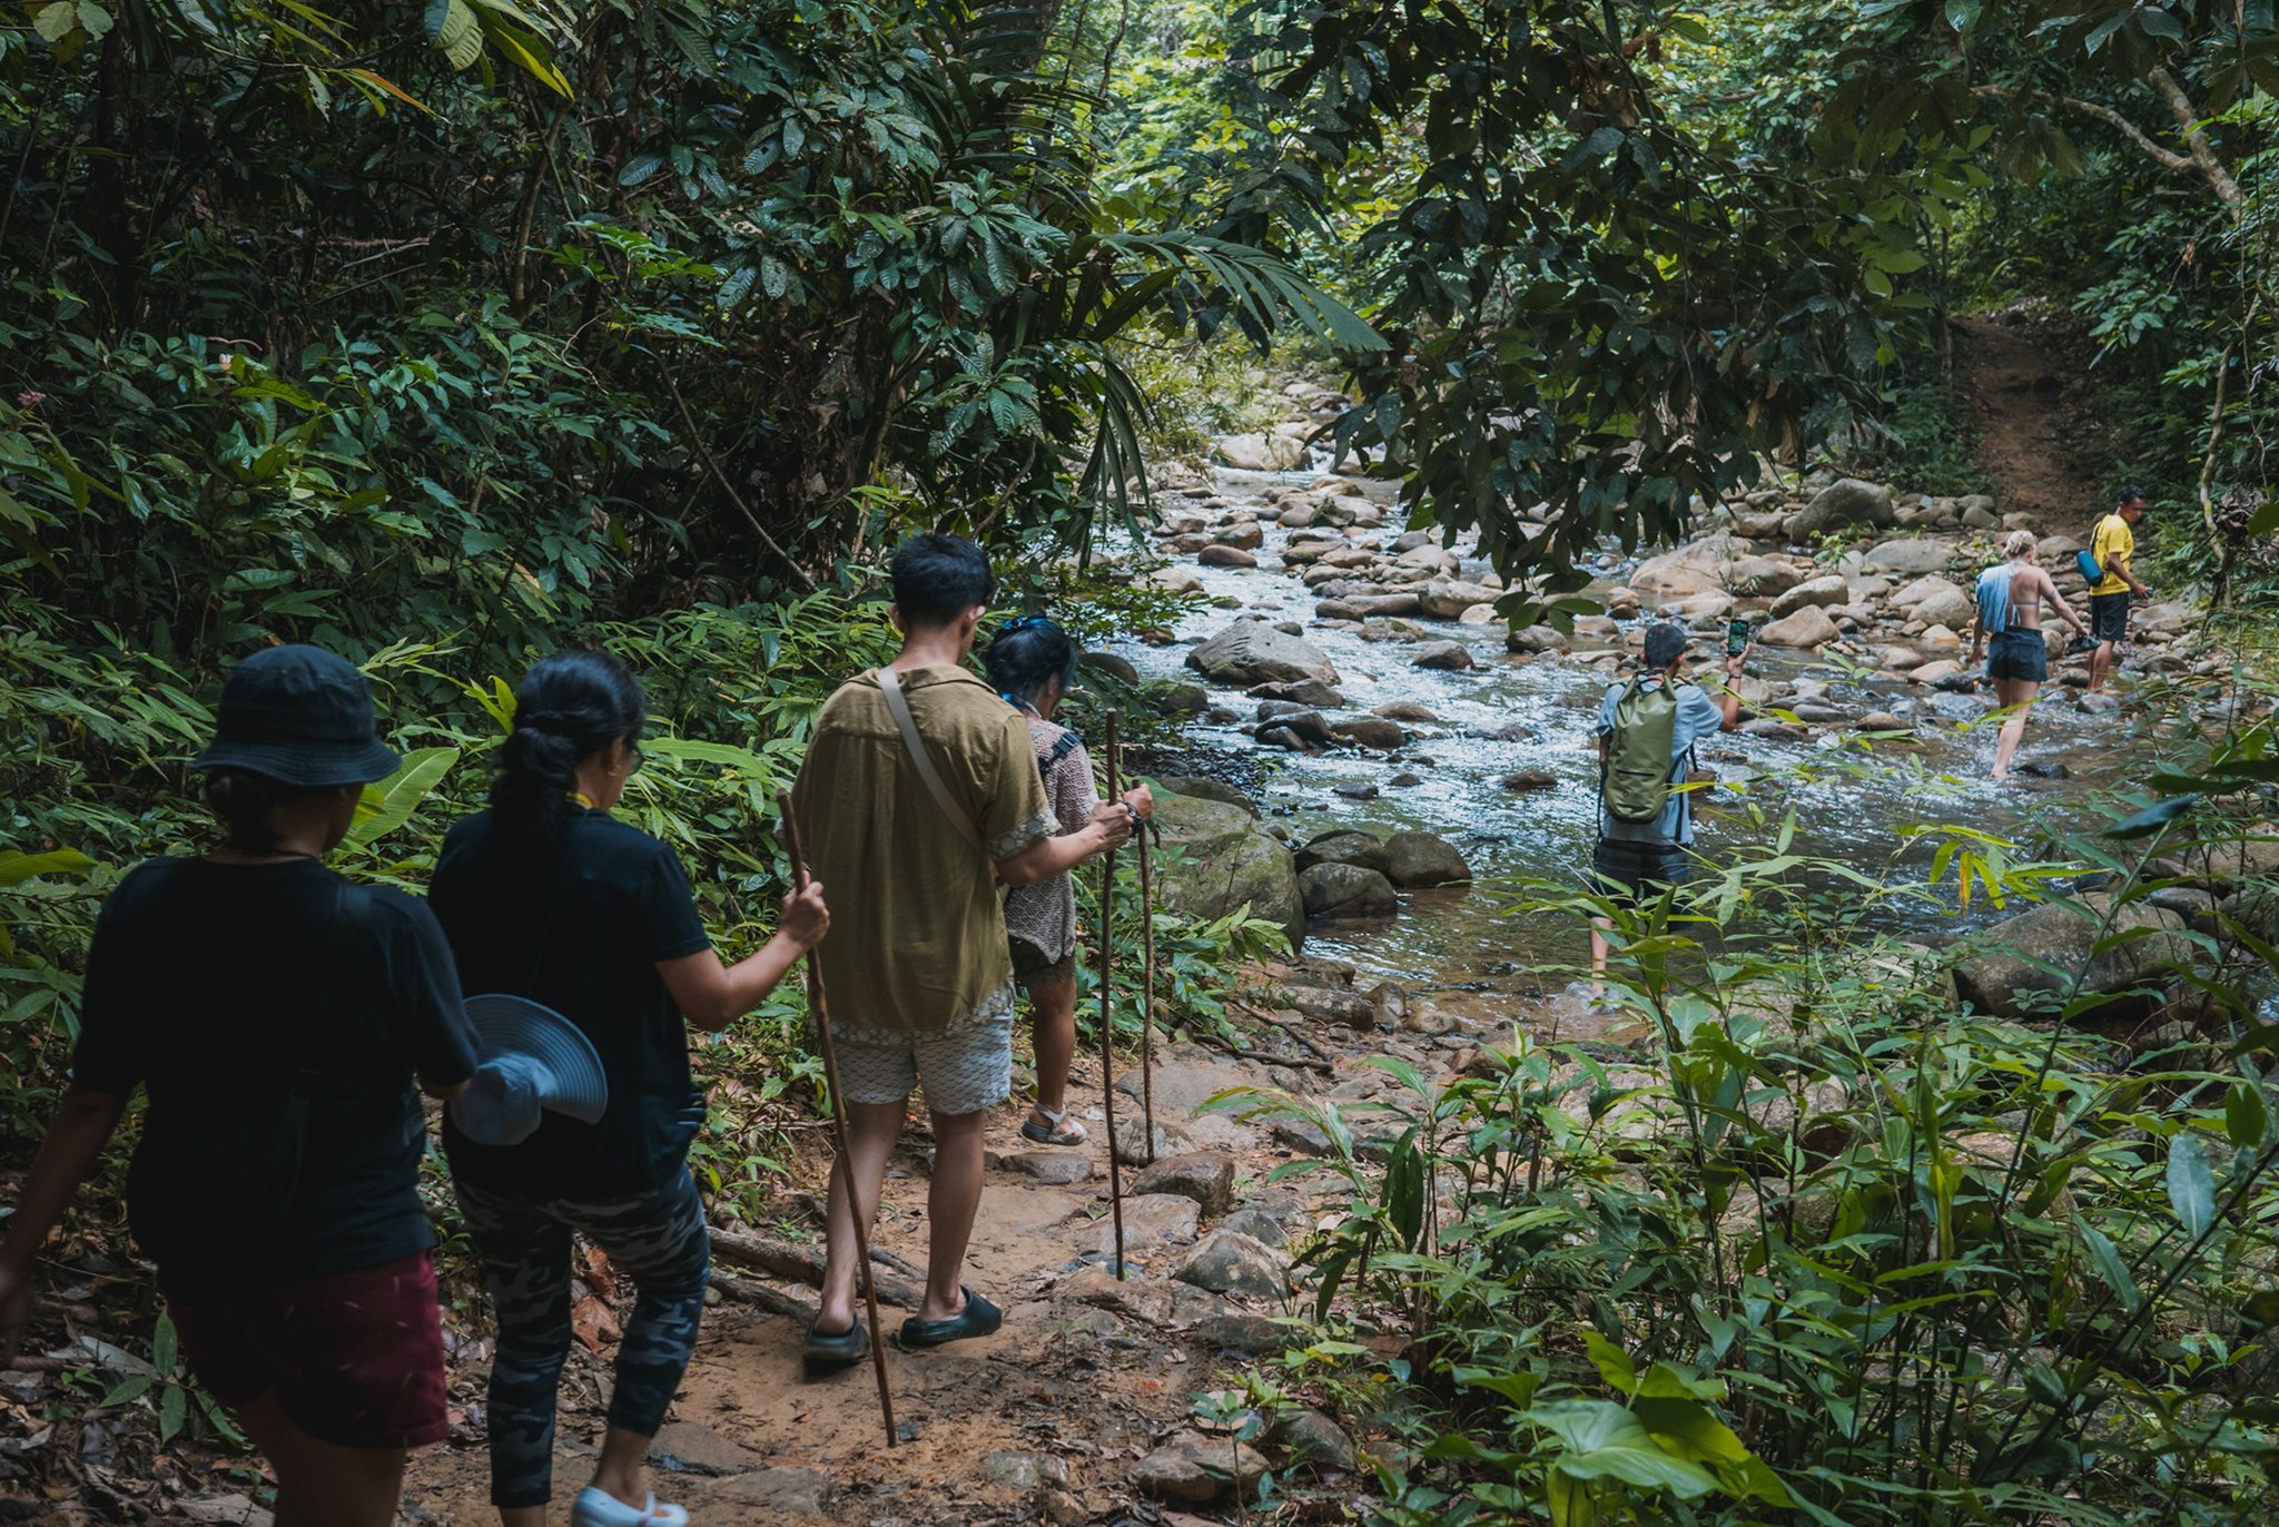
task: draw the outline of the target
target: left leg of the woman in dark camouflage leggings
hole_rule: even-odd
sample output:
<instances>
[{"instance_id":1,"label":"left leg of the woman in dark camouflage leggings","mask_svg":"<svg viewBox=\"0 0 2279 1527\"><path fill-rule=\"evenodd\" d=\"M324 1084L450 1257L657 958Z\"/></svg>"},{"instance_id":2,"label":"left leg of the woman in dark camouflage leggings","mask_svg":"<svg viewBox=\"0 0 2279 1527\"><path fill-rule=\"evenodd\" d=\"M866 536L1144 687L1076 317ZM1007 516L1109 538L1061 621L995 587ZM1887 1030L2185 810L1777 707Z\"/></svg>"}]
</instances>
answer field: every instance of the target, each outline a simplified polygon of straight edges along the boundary
<instances>
[{"instance_id":1,"label":"left leg of the woman in dark camouflage leggings","mask_svg":"<svg viewBox=\"0 0 2279 1527\"><path fill-rule=\"evenodd\" d=\"M570 1226L545 1206L458 1185L467 1240L499 1320L490 1365L490 1504L506 1527L545 1527L554 1404L570 1356Z\"/></svg>"}]
</instances>

